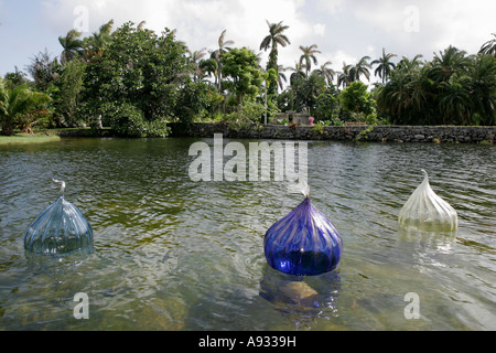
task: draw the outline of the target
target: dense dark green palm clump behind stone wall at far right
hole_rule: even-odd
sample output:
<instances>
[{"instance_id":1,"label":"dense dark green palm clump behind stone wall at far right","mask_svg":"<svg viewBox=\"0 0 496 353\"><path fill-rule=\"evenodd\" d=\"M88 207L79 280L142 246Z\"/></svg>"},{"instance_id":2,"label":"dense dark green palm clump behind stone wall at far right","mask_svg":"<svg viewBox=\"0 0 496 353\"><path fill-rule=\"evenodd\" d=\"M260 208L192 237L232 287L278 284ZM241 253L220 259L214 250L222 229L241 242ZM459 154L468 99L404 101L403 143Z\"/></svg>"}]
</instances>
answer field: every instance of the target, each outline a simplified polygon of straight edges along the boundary
<instances>
[{"instance_id":1,"label":"dense dark green palm clump behind stone wall at far right","mask_svg":"<svg viewBox=\"0 0 496 353\"><path fill-rule=\"evenodd\" d=\"M494 125L496 60L453 46L432 62L403 58L378 88L377 103L399 125Z\"/></svg>"}]
</instances>

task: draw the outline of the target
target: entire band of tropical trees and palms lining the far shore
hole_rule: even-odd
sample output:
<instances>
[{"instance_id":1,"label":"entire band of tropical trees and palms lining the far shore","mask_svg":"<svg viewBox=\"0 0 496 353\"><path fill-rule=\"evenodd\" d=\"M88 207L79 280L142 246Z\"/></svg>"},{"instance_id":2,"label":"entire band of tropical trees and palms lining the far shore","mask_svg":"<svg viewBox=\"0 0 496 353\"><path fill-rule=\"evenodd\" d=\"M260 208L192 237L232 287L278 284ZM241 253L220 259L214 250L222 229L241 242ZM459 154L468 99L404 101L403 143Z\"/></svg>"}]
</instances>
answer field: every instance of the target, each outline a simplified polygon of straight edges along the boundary
<instances>
[{"instance_id":1,"label":"entire band of tropical trees and palms lining the far shore","mask_svg":"<svg viewBox=\"0 0 496 353\"><path fill-rule=\"evenodd\" d=\"M289 110L326 125L495 125L494 34L475 54L449 46L425 61L382 49L378 58L335 71L317 44L299 45L294 66L282 66L289 25L267 25L259 47L269 52L265 66L261 53L235 46L227 30L218 47L194 51L174 30L158 34L145 22L114 29L110 20L86 38L71 30L58 38L58 56L45 50L26 73L15 67L0 78L1 133L110 127L122 136L163 137L170 122L260 124Z\"/></svg>"}]
</instances>

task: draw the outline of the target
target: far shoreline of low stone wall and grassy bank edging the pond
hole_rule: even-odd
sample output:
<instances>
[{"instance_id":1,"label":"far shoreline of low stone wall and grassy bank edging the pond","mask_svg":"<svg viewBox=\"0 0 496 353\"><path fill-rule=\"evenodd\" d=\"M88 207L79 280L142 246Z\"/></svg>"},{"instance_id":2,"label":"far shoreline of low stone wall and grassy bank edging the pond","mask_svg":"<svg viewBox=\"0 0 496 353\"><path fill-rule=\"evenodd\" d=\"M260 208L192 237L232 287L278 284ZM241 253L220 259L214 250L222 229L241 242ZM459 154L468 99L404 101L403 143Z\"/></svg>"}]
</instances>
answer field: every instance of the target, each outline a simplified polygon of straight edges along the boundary
<instances>
[{"instance_id":1,"label":"far shoreline of low stone wall and grassy bank edging the pond","mask_svg":"<svg viewBox=\"0 0 496 353\"><path fill-rule=\"evenodd\" d=\"M327 140L362 142L481 143L494 145L496 126L284 126L251 125L233 129L223 122L169 124L169 137L233 139ZM54 129L35 135L0 137L0 146L58 141L61 138L119 138L111 129ZM2 141L3 140L3 141Z\"/></svg>"}]
</instances>

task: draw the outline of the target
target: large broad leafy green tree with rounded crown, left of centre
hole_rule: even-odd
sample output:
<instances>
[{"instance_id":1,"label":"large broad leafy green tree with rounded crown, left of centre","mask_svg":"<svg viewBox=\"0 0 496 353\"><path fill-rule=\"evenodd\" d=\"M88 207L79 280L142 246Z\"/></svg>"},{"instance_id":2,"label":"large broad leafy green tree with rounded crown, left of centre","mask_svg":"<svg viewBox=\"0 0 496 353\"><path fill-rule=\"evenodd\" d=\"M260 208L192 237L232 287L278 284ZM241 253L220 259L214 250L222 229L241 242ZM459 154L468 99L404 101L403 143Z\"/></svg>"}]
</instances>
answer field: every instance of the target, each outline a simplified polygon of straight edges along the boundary
<instances>
[{"instance_id":1,"label":"large broad leafy green tree with rounded crown, left of centre","mask_svg":"<svg viewBox=\"0 0 496 353\"><path fill-rule=\"evenodd\" d=\"M179 92L190 78L186 53L168 29L157 35L125 23L116 30L106 54L86 67L84 95L89 113L101 114L110 124L131 114L143 127L171 117L180 104Z\"/></svg>"}]
</instances>

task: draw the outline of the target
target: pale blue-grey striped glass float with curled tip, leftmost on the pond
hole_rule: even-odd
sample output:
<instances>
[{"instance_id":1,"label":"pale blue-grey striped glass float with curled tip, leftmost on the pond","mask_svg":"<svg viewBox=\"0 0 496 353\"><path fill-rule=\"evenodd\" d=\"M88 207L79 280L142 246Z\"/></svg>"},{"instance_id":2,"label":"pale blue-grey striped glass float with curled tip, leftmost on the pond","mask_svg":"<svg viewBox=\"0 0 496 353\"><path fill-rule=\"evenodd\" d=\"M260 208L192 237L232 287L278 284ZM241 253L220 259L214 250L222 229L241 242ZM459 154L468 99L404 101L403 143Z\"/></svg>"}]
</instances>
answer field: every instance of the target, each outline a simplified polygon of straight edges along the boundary
<instances>
[{"instance_id":1,"label":"pale blue-grey striped glass float with curled tip, leftmost on the pond","mask_svg":"<svg viewBox=\"0 0 496 353\"><path fill-rule=\"evenodd\" d=\"M78 250L91 250L93 229L80 211L61 195L28 227L24 247L32 254L64 256Z\"/></svg>"}]
</instances>

